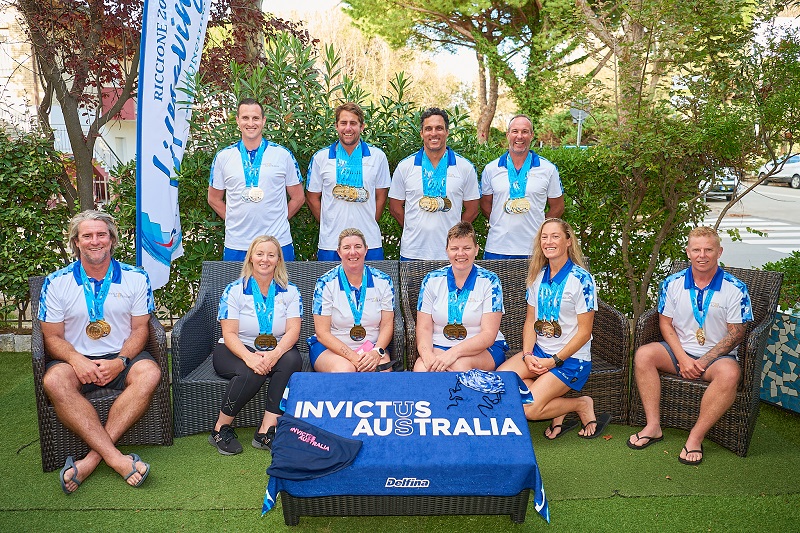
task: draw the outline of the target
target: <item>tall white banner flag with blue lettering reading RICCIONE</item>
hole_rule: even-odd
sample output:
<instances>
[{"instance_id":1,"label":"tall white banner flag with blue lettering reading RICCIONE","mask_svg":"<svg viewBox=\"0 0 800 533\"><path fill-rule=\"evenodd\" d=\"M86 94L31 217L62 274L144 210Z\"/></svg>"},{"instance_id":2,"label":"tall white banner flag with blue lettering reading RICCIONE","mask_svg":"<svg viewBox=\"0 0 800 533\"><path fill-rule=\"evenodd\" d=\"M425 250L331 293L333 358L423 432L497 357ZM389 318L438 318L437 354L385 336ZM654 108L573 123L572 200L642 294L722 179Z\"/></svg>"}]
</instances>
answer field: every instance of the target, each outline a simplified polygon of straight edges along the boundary
<instances>
[{"instance_id":1,"label":"tall white banner flag with blue lettering reading RICCIONE","mask_svg":"<svg viewBox=\"0 0 800 533\"><path fill-rule=\"evenodd\" d=\"M200 68L208 0L145 0L139 62L136 264L153 289L183 255L175 179L189 135L191 97L181 90ZM181 102L181 103L179 103Z\"/></svg>"}]
</instances>

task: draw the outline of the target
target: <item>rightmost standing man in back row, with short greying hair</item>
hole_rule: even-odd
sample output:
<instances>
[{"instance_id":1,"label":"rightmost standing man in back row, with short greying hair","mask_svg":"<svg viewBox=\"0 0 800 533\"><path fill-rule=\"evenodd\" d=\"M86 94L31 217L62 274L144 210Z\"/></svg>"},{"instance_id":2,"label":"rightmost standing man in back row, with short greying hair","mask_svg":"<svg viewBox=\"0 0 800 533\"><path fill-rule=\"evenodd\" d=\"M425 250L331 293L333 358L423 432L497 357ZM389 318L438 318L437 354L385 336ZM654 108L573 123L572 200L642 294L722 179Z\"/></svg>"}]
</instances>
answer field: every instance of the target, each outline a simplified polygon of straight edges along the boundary
<instances>
[{"instance_id":1,"label":"rightmost standing man in back row, with short greying hair","mask_svg":"<svg viewBox=\"0 0 800 533\"><path fill-rule=\"evenodd\" d=\"M533 123L517 115L508 123L508 151L481 175L481 211L489 219L484 259L527 259L548 218L564 214L564 188L556 166L531 150Z\"/></svg>"}]
</instances>

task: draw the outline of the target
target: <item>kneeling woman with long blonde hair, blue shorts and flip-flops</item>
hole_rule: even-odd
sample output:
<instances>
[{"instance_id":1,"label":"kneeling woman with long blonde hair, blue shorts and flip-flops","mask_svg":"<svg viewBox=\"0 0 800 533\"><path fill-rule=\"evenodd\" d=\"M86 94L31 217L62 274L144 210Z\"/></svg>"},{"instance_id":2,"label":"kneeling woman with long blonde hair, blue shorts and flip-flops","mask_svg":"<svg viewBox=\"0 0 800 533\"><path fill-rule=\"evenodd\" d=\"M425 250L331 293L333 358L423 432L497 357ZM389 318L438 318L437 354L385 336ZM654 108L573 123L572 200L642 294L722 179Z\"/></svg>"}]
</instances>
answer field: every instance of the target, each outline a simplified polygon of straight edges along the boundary
<instances>
[{"instance_id":1,"label":"kneeling woman with long blonde hair, blue shorts and flip-flops","mask_svg":"<svg viewBox=\"0 0 800 533\"><path fill-rule=\"evenodd\" d=\"M592 324L597 310L594 279L586 270L572 227L558 218L544 221L536 235L528 268L528 311L522 331L522 352L498 370L516 372L530 387L533 403L526 404L529 420L552 418L544 436L556 439L577 426L563 424L568 413L580 417L579 435L600 435L611 419L595 418L589 396L565 398L580 391L592 370Z\"/></svg>"}]
</instances>

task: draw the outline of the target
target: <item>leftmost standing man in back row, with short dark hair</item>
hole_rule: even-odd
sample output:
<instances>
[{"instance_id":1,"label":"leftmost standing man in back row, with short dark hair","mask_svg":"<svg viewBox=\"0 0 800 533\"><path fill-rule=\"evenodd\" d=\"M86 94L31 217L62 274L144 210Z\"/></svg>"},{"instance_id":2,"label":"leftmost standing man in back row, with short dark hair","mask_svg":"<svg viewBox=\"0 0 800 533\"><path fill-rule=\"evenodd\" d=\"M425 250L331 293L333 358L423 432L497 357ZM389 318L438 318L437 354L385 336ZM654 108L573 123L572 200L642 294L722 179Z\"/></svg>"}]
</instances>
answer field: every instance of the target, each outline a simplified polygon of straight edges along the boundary
<instances>
[{"instance_id":1,"label":"leftmost standing man in back row, with short dark hair","mask_svg":"<svg viewBox=\"0 0 800 533\"><path fill-rule=\"evenodd\" d=\"M208 205L225 221L225 261L243 261L259 235L278 239L284 259L294 261L289 219L303 206L303 177L289 150L264 139L266 121L259 102L243 99L236 112L242 139L211 165Z\"/></svg>"}]
</instances>

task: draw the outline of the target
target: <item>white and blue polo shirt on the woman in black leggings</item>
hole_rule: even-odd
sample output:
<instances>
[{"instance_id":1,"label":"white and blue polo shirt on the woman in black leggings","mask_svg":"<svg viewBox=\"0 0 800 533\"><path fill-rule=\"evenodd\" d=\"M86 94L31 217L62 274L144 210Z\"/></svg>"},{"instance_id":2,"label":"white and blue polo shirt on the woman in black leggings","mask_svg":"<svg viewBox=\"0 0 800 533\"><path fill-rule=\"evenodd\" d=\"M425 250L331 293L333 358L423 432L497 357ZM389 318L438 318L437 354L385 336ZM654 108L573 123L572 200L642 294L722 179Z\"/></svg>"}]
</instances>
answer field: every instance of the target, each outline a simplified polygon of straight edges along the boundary
<instances>
[{"instance_id":1,"label":"white and blue polo shirt on the woman in black leggings","mask_svg":"<svg viewBox=\"0 0 800 533\"><path fill-rule=\"evenodd\" d=\"M217 320L239 321L239 340L250 347L253 347L256 337L261 333L253 304L253 283L252 277L248 278L247 283L239 278L225 287L217 312ZM263 296L266 299L266 294ZM272 317L272 334L275 338L280 341L286 333L286 319L302 316L303 300L295 284L290 282L284 289L276 283L275 314ZM224 343L225 340L220 338L219 342Z\"/></svg>"}]
</instances>

